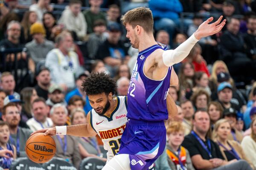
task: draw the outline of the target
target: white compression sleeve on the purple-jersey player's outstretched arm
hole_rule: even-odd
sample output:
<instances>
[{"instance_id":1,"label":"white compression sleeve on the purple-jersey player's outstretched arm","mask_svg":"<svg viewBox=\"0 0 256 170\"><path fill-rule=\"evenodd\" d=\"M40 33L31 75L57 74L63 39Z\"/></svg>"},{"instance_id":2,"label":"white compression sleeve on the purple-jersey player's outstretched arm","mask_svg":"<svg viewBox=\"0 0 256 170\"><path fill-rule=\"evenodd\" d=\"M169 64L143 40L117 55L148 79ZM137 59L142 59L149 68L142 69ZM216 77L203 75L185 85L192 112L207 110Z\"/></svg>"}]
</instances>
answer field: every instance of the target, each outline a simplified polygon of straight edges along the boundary
<instances>
[{"instance_id":1,"label":"white compression sleeve on the purple-jersey player's outstretched arm","mask_svg":"<svg viewBox=\"0 0 256 170\"><path fill-rule=\"evenodd\" d=\"M189 55L190 50L199 40L192 34L185 42L180 44L175 50L166 50L163 52L163 63L167 67L181 62Z\"/></svg>"}]
</instances>

